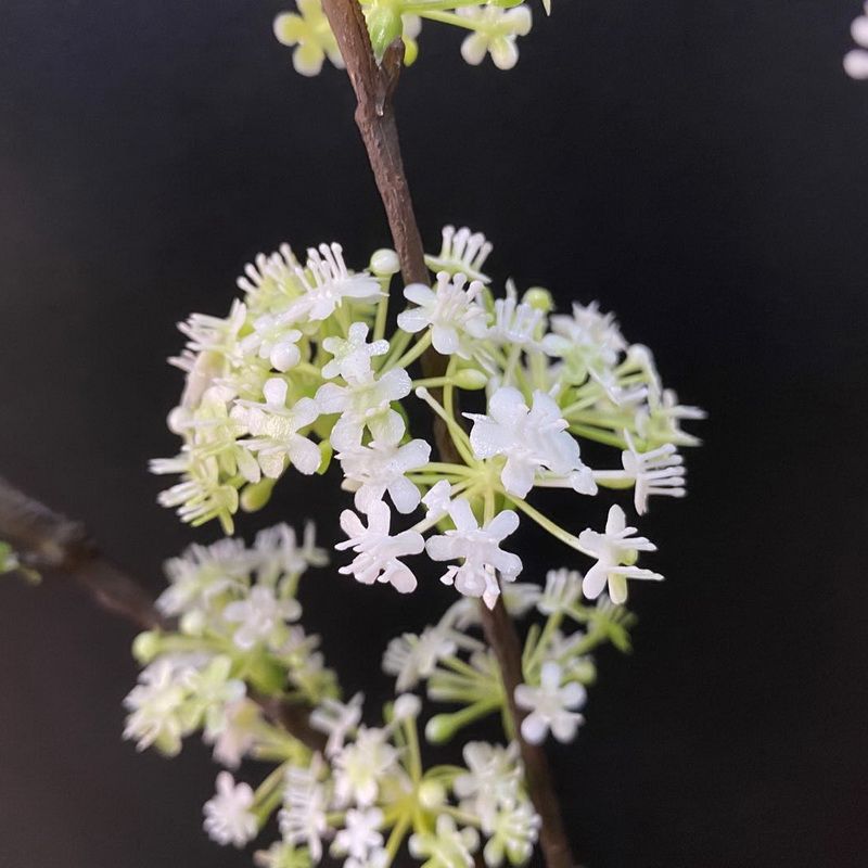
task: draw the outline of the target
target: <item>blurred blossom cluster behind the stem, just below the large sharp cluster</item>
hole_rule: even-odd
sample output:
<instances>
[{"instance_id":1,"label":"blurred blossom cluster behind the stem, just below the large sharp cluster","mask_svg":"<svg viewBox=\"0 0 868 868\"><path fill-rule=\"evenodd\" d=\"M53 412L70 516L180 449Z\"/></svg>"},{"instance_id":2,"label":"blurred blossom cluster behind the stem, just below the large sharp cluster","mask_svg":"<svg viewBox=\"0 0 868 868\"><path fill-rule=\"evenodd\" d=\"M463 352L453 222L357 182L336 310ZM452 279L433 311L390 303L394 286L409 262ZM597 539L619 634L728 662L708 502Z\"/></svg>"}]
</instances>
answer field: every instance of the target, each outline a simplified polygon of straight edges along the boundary
<instances>
[{"instance_id":1,"label":"blurred blossom cluster behind the stem, just below the large sharp cluster","mask_svg":"<svg viewBox=\"0 0 868 868\"><path fill-rule=\"evenodd\" d=\"M522 684L514 700L525 716L522 737L539 744L549 731L559 741L572 741L583 717L586 686L596 678L591 652L604 642L629 649L633 616L607 596L585 605L583 576L566 569L552 570L545 587L532 583L507 586L503 602L513 618L536 612L545 616L533 624L522 652ZM383 656L383 671L395 677L395 690L425 685L433 702L459 705L437 714L425 728L431 742L450 740L463 727L489 714L500 714L505 731L514 735L509 703L492 650L473 633L480 627L478 608L471 600L454 603L437 624L421 634L405 633L393 639Z\"/></svg>"}]
</instances>

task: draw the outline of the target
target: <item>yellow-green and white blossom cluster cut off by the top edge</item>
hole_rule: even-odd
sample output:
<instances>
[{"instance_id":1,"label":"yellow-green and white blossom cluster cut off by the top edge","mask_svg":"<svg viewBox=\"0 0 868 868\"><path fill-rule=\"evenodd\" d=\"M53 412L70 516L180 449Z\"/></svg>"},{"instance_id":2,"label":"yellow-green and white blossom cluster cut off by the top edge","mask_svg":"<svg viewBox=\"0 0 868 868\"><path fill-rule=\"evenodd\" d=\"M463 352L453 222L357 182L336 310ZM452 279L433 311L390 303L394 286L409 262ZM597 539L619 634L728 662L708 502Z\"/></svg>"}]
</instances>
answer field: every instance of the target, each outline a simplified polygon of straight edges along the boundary
<instances>
[{"instance_id":1,"label":"yellow-green and white blossom cluster cut off by the top edge","mask_svg":"<svg viewBox=\"0 0 868 868\"><path fill-rule=\"evenodd\" d=\"M531 9L521 0L360 0L374 53L381 58L395 39L404 42L404 63L419 55L417 37L423 21L458 27L467 36L461 56L473 66L487 54L498 69L519 60L518 37L531 33ZM544 0L546 12L550 0ZM318 75L328 58L339 69L344 62L320 0L296 0L296 12L275 20L275 36L293 48L292 63L304 76Z\"/></svg>"}]
</instances>

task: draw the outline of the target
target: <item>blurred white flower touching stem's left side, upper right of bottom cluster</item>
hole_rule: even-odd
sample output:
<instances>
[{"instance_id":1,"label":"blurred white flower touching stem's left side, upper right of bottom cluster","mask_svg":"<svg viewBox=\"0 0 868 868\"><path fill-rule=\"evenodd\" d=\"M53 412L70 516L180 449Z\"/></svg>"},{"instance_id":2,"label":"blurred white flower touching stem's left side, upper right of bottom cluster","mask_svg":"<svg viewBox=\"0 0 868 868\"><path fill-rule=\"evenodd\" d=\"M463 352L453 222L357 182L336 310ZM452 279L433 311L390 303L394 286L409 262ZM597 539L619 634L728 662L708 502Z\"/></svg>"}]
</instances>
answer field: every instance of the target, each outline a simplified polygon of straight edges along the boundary
<instances>
[{"instance_id":1,"label":"blurred white flower touching stem's left side, upper right of bottom cluster","mask_svg":"<svg viewBox=\"0 0 868 868\"><path fill-rule=\"evenodd\" d=\"M468 771L455 779L455 794L462 800L462 810L480 817L488 832L498 809L514 804L519 796L522 769L519 745L507 748L485 741L470 741L463 749Z\"/></svg>"}]
</instances>

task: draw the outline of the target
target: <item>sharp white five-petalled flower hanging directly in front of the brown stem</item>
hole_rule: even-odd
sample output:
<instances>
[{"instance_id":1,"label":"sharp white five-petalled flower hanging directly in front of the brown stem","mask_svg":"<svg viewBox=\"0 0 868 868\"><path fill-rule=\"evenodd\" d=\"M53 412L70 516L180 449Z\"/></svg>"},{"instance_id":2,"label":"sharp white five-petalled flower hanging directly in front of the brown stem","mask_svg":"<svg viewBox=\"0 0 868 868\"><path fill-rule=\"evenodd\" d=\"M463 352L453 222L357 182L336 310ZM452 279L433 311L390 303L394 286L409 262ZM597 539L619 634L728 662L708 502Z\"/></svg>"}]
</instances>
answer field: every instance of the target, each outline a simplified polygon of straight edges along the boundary
<instances>
[{"instance_id":1,"label":"sharp white five-petalled flower hanging directly in front of the brown stem","mask_svg":"<svg viewBox=\"0 0 868 868\"><path fill-rule=\"evenodd\" d=\"M512 510L505 510L480 527L465 498L452 501L449 516L455 529L431 537L427 553L434 561L463 559L461 566L450 566L441 582L455 584L468 597L482 597L492 609L500 593L495 570L507 582L513 582L522 571L521 559L500 549L500 544L518 528L519 516Z\"/></svg>"}]
</instances>

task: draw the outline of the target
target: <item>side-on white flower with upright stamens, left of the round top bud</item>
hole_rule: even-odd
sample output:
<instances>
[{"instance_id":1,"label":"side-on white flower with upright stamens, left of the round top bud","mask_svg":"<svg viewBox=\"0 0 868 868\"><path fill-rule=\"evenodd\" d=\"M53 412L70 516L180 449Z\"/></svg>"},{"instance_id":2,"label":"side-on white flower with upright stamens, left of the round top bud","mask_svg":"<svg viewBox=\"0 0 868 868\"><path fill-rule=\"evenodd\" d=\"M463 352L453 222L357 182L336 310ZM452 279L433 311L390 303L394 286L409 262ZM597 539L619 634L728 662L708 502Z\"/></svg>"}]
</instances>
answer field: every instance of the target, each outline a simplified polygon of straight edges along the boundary
<instances>
[{"instance_id":1,"label":"side-on white flower with upright stamens, left of the round top bud","mask_svg":"<svg viewBox=\"0 0 868 868\"><path fill-rule=\"evenodd\" d=\"M340 244L308 247L305 268L296 270L304 295L290 305L286 317L296 321L328 319L344 298L371 299L382 295L380 283L366 271L350 275Z\"/></svg>"}]
</instances>

